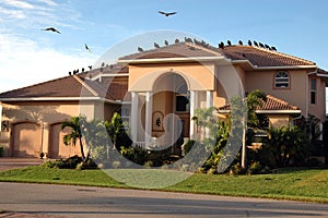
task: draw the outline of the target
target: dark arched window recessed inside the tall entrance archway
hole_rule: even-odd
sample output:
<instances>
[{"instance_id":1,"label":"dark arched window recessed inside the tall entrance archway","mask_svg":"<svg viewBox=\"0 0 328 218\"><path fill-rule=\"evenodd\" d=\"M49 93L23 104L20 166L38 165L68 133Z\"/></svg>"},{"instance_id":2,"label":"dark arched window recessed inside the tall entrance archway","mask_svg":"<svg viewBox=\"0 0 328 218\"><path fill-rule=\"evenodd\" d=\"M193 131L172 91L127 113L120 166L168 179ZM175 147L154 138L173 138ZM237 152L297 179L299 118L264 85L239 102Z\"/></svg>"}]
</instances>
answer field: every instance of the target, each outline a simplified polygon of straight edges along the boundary
<instances>
[{"instance_id":1,"label":"dark arched window recessed inside the tall entrance archway","mask_svg":"<svg viewBox=\"0 0 328 218\"><path fill-rule=\"evenodd\" d=\"M176 94L176 108L178 112L186 112L190 110L190 92L188 90L187 84L181 84L178 86Z\"/></svg>"}]
</instances>

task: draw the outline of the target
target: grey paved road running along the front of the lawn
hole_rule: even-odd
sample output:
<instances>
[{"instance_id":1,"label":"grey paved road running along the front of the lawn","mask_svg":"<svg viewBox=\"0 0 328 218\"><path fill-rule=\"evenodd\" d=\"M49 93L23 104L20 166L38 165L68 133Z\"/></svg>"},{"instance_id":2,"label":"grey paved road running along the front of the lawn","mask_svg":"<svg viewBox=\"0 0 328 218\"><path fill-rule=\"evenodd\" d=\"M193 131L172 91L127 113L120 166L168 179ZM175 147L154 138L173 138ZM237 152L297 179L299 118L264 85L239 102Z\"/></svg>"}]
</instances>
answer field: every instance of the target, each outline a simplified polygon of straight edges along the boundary
<instances>
[{"instance_id":1,"label":"grey paved road running along the front of the lawn","mask_svg":"<svg viewBox=\"0 0 328 218\"><path fill-rule=\"evenodd\" d=\"M0 208L23 217L328 217L327 204L23 183L0 183Z\"/></svg>"}]
</instances>

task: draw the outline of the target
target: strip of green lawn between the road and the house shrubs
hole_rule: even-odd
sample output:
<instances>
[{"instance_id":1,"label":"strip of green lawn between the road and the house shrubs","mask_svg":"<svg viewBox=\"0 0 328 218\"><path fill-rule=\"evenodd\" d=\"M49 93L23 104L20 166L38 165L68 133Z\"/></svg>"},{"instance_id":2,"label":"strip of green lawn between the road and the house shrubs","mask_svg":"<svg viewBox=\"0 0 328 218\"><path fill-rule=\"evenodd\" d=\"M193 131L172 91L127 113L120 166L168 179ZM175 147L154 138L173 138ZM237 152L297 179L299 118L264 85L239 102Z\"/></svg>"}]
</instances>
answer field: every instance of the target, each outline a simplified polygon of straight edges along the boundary
<instances>
[{"instance_id":1,"label":"strip of green lawn between the road and the house shrubs","mask_svg":"<svg viewBox=\"0 0 328 218\"><path fill-rule=\"evenodd\" d=\"M160 170L115 170L114 172L109 174L125 179L118 182L102 170L79 171L28 167L0 172L0 181L131 187L127 184L138 181L140 177L145 177L140 181L155 184L169 177L181 175L177 172ZM164 184L166 183L163 183L163 186ZM147 187L142 182L138 185ZM194 174L175 185L156 187L156 190L328 203L328 169L284 169L277 173L258 175Z\"/></svg>"}]
</instances>

